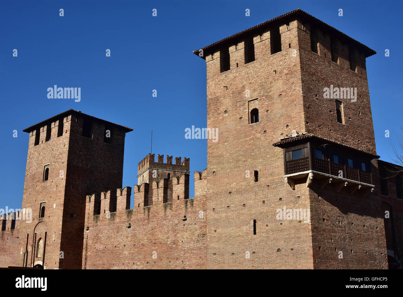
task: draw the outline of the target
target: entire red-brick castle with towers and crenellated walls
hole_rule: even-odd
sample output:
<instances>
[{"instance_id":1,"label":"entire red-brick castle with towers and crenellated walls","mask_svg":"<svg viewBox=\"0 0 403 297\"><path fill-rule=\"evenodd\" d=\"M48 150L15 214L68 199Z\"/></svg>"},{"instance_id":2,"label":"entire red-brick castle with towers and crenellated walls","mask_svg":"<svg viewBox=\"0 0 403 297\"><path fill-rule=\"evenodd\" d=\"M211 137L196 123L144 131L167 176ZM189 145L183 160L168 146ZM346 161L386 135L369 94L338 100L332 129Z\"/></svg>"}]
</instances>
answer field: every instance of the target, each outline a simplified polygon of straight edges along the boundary
<instances>
[{"instance_id":1,"label":"entire red-brick castle with towers and crenellated walls","mask_svg":"<svg viewBox=\"0 0 403 297\"><path fill-rule=\"evenodd\" d=\"M220 132L195 197L189 158L148 154L122 188L132 129L67 110L24 130L0 267L401 268L402 177L378 161L366 75L376 52L297 9L193 53Z\"/></svg>"}]
</instances>

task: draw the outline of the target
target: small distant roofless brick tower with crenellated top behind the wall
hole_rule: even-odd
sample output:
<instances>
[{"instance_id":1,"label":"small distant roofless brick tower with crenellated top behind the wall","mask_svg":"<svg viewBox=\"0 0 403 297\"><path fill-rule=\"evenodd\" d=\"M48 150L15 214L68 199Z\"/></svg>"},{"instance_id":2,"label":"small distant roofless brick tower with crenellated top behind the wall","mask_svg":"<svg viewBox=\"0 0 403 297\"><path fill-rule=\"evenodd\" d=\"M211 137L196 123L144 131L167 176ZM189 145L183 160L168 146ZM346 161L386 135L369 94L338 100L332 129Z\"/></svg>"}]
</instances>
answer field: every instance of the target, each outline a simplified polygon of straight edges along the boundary
<instances>
[{"instance_id":1,"label":"small distant roofless brick tower with crenellated top behind the wall","mask_svg":"<svg viewBox=\"0 0 403 297\"><path fill-rule=\"evenodd\" d=\"M189 175L190 158L175 157L175 164L172 164L172 156L166 156L164 163L164 155L158 154L157 162L155 162L155 154L148 154L138 164L137 184L146 183L147 187L152 185L153 181L160 182L164 180L164 201L172 201L172 178L180 178L182 175ZM187 193L185 199L189 198L189 176L186 176ZM147 194L147 191L145 191ZM146 197L144 205L152 205L152 197Z\"/></svg>"}]
</instances>

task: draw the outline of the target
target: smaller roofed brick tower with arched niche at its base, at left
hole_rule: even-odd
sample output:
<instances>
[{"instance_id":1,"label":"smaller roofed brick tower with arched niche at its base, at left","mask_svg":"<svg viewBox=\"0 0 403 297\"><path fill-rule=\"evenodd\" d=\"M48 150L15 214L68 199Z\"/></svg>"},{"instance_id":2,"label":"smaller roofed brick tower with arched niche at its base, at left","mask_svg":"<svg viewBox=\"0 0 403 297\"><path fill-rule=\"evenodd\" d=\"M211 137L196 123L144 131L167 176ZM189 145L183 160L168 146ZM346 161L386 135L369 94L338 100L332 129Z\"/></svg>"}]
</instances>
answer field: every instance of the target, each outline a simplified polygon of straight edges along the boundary
<instances>
[{"instance_id":1,"label":"smaller roofed brick tower with arched niche at its base, at left","mask_svg":"<svg viewBox=\"0 0 403 297\"><path fill-rule=\"evenodd\" d=\"M17 266L81 268L85 195L122 187L125 134L133 129L67 110L29 133Z\"/></svg>"}]
</instances>

